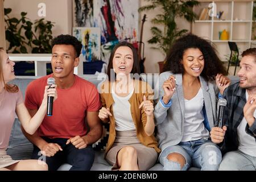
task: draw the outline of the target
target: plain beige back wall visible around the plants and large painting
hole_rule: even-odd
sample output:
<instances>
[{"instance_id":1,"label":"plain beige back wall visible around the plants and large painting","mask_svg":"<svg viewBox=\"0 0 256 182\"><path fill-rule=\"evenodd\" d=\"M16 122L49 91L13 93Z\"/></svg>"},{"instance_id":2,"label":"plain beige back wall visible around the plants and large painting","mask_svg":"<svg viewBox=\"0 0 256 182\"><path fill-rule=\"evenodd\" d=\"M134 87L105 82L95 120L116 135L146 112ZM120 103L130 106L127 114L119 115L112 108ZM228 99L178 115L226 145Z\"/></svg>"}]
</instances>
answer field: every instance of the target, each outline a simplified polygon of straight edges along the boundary
<instances>
[{"instance_id":1,"label":"plain beige back wall visible around the plants and large painting","mask_svg":"<svg viewBox=\"0 0 256 182\"><path fill-rule=\"evenodd\" d=\"M141 6L146 5L148 2L145 0L134 0L141 1ZM5 0L5 7L10 7L13 9L10 16L20 17L22 11L27 12L27 17L32 21L35 19L40 19L38 16L38 4L46 3L46 19L55 22L55 27L53 27L53 36L59 34L71 34L72 33L72 0ZM143 39L145 43L145 52L146 61L144 63L147 73L158 73L158 61L163 61L165 56L162 52L151 49L151 44L147 43L147 40L151 38L150 28L153 26L150 20L154 18L160 10L148 11L147 21L144 23ZM144 15L144 12L141 13L141 18L139 21L139 34L141 30L141 19ZM190 23L185 22L184 20L177 20L178 28L185 28L190 30Z\"/></svg>"}]
</instances>

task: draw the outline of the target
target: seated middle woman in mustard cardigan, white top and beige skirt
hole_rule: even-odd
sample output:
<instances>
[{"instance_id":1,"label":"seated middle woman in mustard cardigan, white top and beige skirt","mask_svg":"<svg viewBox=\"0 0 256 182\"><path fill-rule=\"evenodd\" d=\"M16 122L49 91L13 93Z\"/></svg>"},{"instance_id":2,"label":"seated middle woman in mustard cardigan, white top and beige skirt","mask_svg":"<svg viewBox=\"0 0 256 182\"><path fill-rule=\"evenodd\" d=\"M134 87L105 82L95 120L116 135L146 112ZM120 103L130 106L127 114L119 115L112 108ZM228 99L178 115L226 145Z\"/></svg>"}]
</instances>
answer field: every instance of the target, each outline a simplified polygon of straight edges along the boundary
<instances>
[{"instance_id":1,"label":"seated middle woman in mustard cardigan, white top and beige skirt","mask_svg":"<svg viewBox=\"0 0 256 182\"><path fill-rule=\"evenodd\" d=\"M137 51L127 42L118 43L109 59L109 80L100 90L98 116L110 123L105 158L112 169L144 171L154 166L160 152L154 137L154 93L131 73L139 73Z\"/></svg>"}]
</instances>

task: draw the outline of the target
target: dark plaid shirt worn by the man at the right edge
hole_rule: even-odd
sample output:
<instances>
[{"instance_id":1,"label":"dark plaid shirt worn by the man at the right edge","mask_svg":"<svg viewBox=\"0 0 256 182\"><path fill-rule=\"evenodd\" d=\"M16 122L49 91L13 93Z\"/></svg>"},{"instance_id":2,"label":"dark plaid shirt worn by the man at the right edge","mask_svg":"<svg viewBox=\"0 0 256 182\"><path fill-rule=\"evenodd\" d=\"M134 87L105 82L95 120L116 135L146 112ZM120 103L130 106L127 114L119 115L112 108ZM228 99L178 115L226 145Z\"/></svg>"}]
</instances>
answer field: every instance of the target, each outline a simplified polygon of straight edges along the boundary
<instances>
[{"instance_id":1,"label":"dark plaid shirt worn by the man at the right edge","mask_svg":"<svg viewBox=\"0 0 256 182\"><path fill-rule=\"evenodd\" d=\"M225 125L228 127L228 130L226 131L224 142L221 144L221 149L224 153L237 150L239 146L237 127L243 119L243 107L246 104L245 92L246 89L240 88L239 82L236 82L225 89L224 98L227 101L227 106L225 109L224 121L226 121ZM247 134L254 137L256 142L256 121L251 127L247 124L245 131Z\"/></svg>"}]
</instances>

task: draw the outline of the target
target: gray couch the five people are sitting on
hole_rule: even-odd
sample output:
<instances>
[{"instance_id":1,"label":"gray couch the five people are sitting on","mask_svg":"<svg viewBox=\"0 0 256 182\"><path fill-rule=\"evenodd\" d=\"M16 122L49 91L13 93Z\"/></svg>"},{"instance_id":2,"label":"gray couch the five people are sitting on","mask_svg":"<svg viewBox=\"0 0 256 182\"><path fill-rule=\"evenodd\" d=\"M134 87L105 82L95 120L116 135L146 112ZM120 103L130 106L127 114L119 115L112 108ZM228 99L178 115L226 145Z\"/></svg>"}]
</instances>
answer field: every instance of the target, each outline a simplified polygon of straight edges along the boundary
<instances>
[{"instance_id":1,"label":"gray couch the five people are sitting on","mask_svg":"<svg viewBox=\"0 0 256 182\"><path fill-rule=\"evenodd\" d=\"M152 88L155 87L154 79L152 79L153 76L150 75L144 75L143 80L147 81ZM85 75L83 76L86 80L93 82L96 86L102 81L99 80L96 75ZM236 81L236 77L231 77L232 82ZM18 85L20 90L22 90L23 96L25 93L25 90L27 88L27 85L29 82L34 80L35 78L16 78L13 83ZM26 137L24 137L22 131L20 130L20 122L18 119L15 119L13 129L11 131L11 137L9 142L9 147L7 148L7 154L12 156L13 159L30 159L32 154L33 146L32 144L27 140ZM60 171L66 171L71 168L71 165L69 164L63 164L60 166L58 170ZM109 171L111 169L111 166L109 165L106 160L104 160L104 151L96 151L94 163L91 168L92 171ZM156 163L155 166L149 169L150 171L162 171L163 166L159 163ZM190 168L189 170L199 170L199 168Z\"/></svg>"}]
</instances>

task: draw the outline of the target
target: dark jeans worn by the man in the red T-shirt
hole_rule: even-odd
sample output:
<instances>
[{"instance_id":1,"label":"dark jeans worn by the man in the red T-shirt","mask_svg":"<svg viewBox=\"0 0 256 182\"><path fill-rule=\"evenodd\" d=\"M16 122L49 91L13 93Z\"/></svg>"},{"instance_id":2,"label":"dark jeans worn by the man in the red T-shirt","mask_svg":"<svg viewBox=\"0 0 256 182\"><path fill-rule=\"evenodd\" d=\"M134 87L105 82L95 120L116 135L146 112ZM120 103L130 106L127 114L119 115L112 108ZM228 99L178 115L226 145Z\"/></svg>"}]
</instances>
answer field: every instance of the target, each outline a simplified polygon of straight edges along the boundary
<instances>
[{"instance_id":1,"label":"dark jeans worn by the man in the red T-shirt","mask_svg":"<svg viewBox=\"0 0 256 182\"><path fill-rule=\"evenodd\" d=\"M57 143L63 149L52 157L43 156L40 149L34 145L32 159L44 160L48 164L49 171L56 171L61 164L68 163L72 167L70 171L89 171L94 161L94 150L91 146L77 149L72 143L66 145L68 139L42 137L48 143Z\"/></svg>"}]
</instances>

